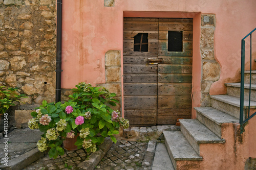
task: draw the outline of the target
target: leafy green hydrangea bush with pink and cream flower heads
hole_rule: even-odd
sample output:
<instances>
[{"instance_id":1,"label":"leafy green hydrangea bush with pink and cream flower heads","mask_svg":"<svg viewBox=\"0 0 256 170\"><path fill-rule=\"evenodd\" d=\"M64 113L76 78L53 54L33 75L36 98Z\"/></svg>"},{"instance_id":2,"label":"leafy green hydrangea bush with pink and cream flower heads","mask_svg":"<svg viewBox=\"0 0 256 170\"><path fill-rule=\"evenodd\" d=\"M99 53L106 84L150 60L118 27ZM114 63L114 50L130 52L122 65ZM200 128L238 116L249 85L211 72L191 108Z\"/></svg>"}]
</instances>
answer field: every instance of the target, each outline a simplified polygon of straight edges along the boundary
<instances>
[{"instance_id":1,"label":"leafy green hydrangea bush with pink and cream flower heads","mask_svg":"<svg viewBox=\"0 0 256 170\"><path fill-rule=\"evenodd\" d=\"M38 150L44 152L50 147L48 154L54 159L64 154L61 144L66 138L79 134L75 143L77 149L84 148L90 153L97 150L105 137L116 142L114 134L118 134L120 128L129 127L129 120L121 117L118 110L111 109L118 103L113 99L115 93L84 82L76 87L68 102L43 101L31 112L33 118L29 120L29 128L44 132L37 142Z\"/></svg>"}]
</instances>

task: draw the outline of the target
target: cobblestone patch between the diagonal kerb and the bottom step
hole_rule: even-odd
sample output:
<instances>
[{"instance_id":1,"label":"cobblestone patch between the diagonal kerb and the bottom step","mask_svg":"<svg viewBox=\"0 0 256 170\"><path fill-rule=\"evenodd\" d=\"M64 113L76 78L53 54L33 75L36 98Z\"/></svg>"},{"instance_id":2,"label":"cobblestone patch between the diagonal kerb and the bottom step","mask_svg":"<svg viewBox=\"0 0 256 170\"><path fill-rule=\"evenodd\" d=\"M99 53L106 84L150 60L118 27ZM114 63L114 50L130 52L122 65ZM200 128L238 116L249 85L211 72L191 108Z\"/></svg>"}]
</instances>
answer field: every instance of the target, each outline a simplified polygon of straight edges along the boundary
<instances>
[{"instance_id":1,"label":"cobblestone patch between the diagonal kerb and the bottom step","mask_svg":"<svg viewBox=\"0 0 256 170\"><path fill-rule=\"evenodd\" d=\"M111 149L100 161L95 169L98 170L132 170L150 169L151 165L142 166L142 161L146 153L147 143L121 140L113 143Z\"/></svg>"}]
</instances>

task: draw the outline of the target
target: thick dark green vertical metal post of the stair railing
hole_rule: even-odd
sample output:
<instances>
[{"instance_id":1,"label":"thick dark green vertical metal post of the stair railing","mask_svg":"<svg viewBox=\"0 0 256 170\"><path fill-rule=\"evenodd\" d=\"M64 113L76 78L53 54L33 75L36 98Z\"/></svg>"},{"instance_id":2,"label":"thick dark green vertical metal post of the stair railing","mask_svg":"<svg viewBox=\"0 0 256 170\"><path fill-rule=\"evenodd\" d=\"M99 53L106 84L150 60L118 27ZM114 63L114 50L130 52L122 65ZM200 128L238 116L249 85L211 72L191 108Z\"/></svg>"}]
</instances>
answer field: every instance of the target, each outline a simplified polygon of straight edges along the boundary
<instances>
[{"instance_id":1,"label":"thick dark green vertical metal post of the stair railing","mask_svg":"<svg viewBox=\"0 0 256 170\"><path fill-rule=\"evenodd\" d=\"M245 64L245 40L242 39L241 46L241 90L240 90L240 129L243 132L243 122L244 122L244 64Z\"/></svg>"}]
</instances>

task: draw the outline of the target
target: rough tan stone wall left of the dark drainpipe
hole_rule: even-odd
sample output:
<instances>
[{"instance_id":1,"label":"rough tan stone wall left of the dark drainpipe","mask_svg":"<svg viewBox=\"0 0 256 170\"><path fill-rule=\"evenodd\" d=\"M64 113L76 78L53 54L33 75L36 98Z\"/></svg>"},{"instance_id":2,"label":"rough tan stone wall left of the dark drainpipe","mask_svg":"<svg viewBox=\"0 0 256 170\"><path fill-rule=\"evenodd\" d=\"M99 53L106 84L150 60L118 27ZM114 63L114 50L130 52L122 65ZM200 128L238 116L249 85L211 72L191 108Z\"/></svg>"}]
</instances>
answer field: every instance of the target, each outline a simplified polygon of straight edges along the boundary
<instances>
[{"instance_id":1,"label":"rough tan stone wall left of the dark drainpipe","mask_svg":"<svg viewBox=\"0 0 256 170\"><path fill-rule=\"evenodd\" d=\"M55 100L55 3L0 0L0 85L18 87L26 105Z\"/></svg>"}]
</instances>

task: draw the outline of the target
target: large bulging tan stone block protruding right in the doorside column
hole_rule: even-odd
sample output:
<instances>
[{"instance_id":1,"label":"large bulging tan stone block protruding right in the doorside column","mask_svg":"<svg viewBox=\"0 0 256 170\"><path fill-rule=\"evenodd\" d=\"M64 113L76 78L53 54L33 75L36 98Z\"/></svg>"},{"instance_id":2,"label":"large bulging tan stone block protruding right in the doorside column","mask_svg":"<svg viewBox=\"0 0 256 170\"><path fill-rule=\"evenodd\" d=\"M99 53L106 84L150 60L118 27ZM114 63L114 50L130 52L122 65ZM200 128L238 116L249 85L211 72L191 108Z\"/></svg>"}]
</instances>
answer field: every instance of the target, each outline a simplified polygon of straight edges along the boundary
<instances>
[{"instance_id":1,"label":"large bulging tan stone block protruding right in the doorside column","mask_svg":"<svg viewBox=\"0 0 256 170\"><path fill-rule=\"evenodd\" d=\"M220 65L217 62L203 62L203 80L217 81L220 78Z\"/></svg>"}]
</instances>

